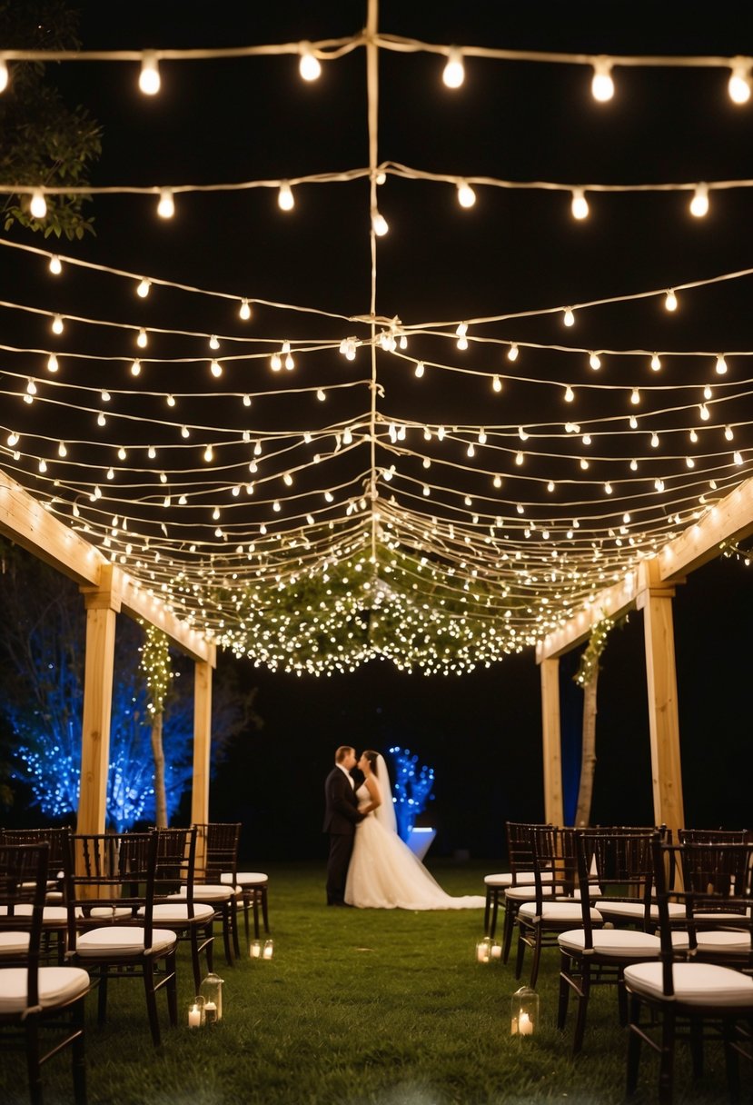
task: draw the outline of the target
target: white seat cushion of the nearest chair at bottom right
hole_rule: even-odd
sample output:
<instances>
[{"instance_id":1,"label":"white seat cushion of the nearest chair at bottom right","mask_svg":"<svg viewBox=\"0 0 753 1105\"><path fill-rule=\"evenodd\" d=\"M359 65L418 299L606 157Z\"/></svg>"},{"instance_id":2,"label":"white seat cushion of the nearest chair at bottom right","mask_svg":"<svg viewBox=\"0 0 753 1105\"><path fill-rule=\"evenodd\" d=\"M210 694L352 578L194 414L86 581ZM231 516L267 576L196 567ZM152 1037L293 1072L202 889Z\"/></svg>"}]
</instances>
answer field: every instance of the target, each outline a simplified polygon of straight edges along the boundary
<instances>
[{"instance_id":1,"label":"white seat cushion of the nearest chair at bottom right","mask_svg":"<svg viewBox=\"0 0 753 1105\"><path fill-rule=\"evenodd\" d=\"M687 1006L744 1007L753 1011L753 978L715 964L672 964L675 1001ZM661 964L625 968L630 990L647 998L662 998ZM669 999L668 999L669 1000Z\"/></svg>"}]
</instances>

